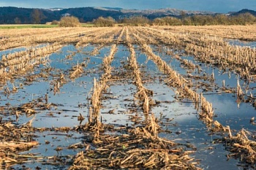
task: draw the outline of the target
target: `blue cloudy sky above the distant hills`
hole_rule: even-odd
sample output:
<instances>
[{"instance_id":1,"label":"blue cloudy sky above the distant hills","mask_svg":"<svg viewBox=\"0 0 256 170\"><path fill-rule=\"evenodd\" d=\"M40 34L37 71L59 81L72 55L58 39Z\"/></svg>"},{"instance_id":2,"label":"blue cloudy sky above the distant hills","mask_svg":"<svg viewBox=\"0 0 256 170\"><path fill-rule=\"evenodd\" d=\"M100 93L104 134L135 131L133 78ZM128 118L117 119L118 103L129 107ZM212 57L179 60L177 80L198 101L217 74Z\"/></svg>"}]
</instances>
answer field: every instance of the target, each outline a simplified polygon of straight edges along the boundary
<instances>
[{"instance_id":1,"label":"blue cloudy sky above the distant hills","mask_svg":"<svg viewBox=\"0 0 256 170\"><path fill-rule=\"evenodd\" d=\"M121 7L124 9L176 8L212 12L256 10L256 0L0 0L0 7Z\"/></svg>"}]
</instances>

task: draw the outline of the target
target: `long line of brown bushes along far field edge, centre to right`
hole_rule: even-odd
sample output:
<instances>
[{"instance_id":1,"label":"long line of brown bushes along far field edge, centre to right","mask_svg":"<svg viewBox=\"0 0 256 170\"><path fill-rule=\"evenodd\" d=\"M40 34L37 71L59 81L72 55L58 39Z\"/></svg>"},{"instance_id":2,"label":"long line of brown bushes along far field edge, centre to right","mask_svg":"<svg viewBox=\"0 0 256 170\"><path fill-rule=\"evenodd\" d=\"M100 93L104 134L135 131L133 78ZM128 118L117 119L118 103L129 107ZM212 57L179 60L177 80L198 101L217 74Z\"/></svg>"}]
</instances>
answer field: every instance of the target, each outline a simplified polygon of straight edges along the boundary
<instances>
[{"instance_id":1,"label":"long line of brown bushes along far field edge, centre to right","mask_svg":"<svg viewBox=\"0 0 256 170\"><path fill-rule=\"evenodd\" d=\"M143 16L124 18L115 21L113 18L98 18L93 21L95 26L115 26L122 23L129 26L210 26L210 25L251 25L256 24L256 17L250 13L240 15L182 15L180 18L164 17L149 20Z\"/></svg>"}]
</instances>

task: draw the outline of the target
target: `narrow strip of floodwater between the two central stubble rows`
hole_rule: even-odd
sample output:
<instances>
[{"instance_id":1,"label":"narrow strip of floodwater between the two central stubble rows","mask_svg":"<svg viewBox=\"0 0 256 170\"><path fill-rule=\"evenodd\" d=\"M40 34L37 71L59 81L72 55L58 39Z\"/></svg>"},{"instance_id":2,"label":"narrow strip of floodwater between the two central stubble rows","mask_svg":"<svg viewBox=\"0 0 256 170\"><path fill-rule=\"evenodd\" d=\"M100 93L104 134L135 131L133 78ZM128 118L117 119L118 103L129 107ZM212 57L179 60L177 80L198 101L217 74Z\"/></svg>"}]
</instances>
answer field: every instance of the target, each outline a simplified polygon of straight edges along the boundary
<instances>
[{"instance_id":1,"label":"narrow strip of floodwater between the two central stubble rows","mask_svg":"<svg viewBox=\"0 0 256 170\"><path fill-rule=\"evenodd\" d=\"M127 64L129 52L127 47L118 46L118 50L111 62L113 75L121 76L127 72L124 69L124 64ZM121 77L119 80L113 80L109 83L108 92L103 95L106 99L102 101L101 115L104 123L120 126L131 126L133 123L130 117L135 113L132 112L132 107L135 106L134 96L136 86L132 84L132 80Z\"/></svg>"}]
</instances>

